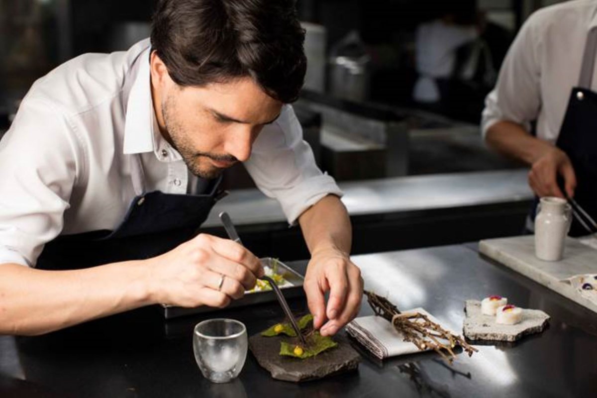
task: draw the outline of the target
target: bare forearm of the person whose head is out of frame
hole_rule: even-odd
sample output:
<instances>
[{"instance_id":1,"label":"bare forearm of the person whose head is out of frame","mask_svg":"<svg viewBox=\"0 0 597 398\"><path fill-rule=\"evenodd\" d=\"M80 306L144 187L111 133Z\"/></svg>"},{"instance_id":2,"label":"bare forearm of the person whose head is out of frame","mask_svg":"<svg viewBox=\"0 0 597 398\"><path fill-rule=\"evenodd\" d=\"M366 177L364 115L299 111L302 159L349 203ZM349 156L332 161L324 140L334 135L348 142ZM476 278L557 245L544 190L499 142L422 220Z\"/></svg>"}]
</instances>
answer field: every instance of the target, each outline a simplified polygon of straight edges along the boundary
<instances>
[{"instance_id":1,"label":"bare forearm of the person whose head is out of frame","mask_svg":"<svg viewBox=\"0 0 597 398\"><path fill-rule=\"evenodd\" d=\"M529 134L521 125L500 121L491 126L485 142L496 152L518 161L533 164L554 146Z\"/></svg>"}]
</instances>

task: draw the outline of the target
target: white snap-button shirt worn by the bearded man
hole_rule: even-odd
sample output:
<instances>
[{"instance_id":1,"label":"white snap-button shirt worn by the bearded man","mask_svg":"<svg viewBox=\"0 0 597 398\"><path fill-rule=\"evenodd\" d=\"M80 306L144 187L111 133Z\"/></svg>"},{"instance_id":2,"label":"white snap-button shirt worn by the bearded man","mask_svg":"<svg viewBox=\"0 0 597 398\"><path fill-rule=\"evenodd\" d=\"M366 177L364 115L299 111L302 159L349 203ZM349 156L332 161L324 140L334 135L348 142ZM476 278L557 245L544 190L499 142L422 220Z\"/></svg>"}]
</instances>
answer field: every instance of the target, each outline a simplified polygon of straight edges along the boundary
<instances>
[{"instance_id":1,"label":"white snap-button shirt worn by the bearded man","mask_svg":"<svg viewBox=\"0 0 597 398\"><path fill-rule=\"evenodd\" d=\"M113 230L135 197L130 160L147 191L193 193L197 178L157 127L149 39L85 54L33 84L0 141L0 264L34 266L56 236ZM303 141L291 106L263 128L244 165L289 223L325 195L341 196Z\"/></svg>"}]
</instances>

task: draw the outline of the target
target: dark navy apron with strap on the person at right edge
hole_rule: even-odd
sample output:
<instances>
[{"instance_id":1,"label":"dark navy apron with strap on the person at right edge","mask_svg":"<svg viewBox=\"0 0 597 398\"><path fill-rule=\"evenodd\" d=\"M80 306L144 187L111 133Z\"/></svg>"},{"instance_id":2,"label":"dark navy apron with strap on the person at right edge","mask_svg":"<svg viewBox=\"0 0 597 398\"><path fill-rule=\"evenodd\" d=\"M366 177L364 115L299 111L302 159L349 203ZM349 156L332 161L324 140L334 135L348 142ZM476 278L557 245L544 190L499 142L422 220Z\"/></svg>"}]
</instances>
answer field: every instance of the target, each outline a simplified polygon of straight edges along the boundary
<instances>
[{"instance_id":1,"label":"dark navy apron with strap on the person at right edge","mask_svg":"<svg viewBox=\"0 0 597 398\"><path fill-rule=\"evenodd\" d=\"M568 155L574 167L577 180L574 200L594 219L597 219L597 93L590 87L596 54L597 28L593 28L584 48L578 87L572 89L556 141L556 146ZM537 203L538 200L533 209L533 219ZM588 234L589 231L574 218L568 235Z\"/></svg>"}]
</instances>

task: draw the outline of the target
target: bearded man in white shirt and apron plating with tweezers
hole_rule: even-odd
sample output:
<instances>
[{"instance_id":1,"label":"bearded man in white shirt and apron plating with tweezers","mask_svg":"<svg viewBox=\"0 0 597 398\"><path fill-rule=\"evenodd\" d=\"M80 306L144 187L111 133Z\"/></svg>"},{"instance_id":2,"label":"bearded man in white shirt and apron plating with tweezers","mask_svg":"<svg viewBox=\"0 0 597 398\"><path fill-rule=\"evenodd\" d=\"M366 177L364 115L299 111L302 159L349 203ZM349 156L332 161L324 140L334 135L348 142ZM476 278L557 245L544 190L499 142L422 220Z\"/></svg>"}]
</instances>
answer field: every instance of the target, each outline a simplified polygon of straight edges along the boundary
<instances>
[{"instance_id":1,"label":"bearded man in white shirt and apron plating with tweezers","mask_svg":"<svg viewBox=\"0 0 597 398\"><path fill-rule=\"evenodd\" d=\"M241 298L259 260L197 235L236 162L300 224L315 327L352 319L363 282L350 221L288 105L303 39L293 1L161 0L150 40L36 81L0 141L0 334Z\"/></svg>"}]
</instances>

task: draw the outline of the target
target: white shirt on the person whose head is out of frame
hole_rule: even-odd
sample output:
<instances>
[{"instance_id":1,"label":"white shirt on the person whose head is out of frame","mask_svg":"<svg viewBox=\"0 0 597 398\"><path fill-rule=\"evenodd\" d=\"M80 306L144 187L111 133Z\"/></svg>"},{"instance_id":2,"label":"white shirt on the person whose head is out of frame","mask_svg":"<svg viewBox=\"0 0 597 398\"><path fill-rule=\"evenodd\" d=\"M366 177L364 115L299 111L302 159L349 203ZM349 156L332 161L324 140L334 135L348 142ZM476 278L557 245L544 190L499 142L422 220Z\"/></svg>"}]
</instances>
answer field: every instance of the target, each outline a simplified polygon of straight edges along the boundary
<instances>
[{"instance_id":1,"label":"white shirt on the person whose head is out of frame","mask_svg":"<svg viewBox=\"0 0 597 398\"><path fill-rule=\"evenodd\" d=\"M597 2L568 1L543 8L522 26L501 66L496 88L485 100L482 133L511 121L554 143L573 87L578 85L584 45L597 26ZM597 88L597 68L592 90ZM597 117L597 115L595 116Z\"/></svg>"}]
</instances>

